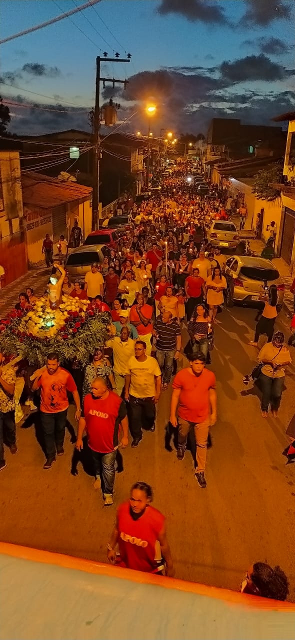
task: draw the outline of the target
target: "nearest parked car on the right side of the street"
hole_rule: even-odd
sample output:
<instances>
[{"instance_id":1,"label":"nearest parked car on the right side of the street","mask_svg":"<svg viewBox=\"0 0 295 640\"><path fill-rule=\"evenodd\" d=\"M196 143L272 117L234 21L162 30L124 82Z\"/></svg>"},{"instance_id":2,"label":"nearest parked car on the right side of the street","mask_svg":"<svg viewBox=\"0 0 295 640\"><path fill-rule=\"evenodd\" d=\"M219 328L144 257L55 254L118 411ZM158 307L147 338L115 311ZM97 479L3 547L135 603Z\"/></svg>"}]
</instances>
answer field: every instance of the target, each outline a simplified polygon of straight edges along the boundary
<instances>
[{"instance_id":1,"label":"nearest parked car on the right side of the street","mask_svg":"<svg viewBox=\"0 0 295 640\"><path fill-rule=\"evenodd\" d=\"M262 289L276 284L278 289L278 310L282 308L285 285L278 269L271 260L248 255L232 255L225 263L225 277L227 278L227 291L225 302L228 307L235 303L244 306L253 305L260 307L259 300Z\"/></svg>"}]
</instances>

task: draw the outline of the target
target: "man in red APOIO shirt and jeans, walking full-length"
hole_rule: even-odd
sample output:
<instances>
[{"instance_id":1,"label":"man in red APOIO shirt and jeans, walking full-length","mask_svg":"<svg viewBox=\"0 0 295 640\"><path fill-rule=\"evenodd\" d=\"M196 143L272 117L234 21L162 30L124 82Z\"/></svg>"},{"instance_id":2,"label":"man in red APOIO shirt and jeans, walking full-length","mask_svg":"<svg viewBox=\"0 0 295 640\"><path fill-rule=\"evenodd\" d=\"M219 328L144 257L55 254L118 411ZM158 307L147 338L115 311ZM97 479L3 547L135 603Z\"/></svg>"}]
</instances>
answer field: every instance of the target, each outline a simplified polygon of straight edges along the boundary
<instances>
[{"instance_id":1,"label":"man in red APOIO shirt and jeans, walking full-length","mask_svg":"<svg viewBox=\"0 0 295 640\"><path fill-rule=\"evenodd\" d=\"M119 427L122 425L122 447L128 445L128 418L126 405L113 391L109 391L104 378L95 378L92 392L84 397L84 417L78 426L76 449L83 449L83 431L86 429L88 447L95 465L95 488L100 486L100 467L104 505L113 504L116 450L119 446Z\"/></svg>"}]
</instances>

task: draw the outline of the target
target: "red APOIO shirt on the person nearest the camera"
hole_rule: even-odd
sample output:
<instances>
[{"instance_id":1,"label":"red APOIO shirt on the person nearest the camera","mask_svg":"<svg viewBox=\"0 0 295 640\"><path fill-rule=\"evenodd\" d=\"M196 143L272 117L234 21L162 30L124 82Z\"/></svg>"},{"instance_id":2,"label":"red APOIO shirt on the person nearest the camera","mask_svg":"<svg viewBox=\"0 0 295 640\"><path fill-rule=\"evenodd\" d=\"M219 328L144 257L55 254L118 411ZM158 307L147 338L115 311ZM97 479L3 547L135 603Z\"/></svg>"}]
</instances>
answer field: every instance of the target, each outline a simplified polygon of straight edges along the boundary
<instances>
[{"instance_id":1,"label":"red APOIO shirt on the person nearest the camera","mask_svg":"<svg viewBox=\"0 0 295 640\"><path fill-rule=\"evenodd\" d=\"M133 520L130 509L129 502L124 502L117 511L122 563L129 569L152 573L157 568L155 543L159 540L165 518L160 511L147 506L143 515Z\"/></svg>"}]
</instances>

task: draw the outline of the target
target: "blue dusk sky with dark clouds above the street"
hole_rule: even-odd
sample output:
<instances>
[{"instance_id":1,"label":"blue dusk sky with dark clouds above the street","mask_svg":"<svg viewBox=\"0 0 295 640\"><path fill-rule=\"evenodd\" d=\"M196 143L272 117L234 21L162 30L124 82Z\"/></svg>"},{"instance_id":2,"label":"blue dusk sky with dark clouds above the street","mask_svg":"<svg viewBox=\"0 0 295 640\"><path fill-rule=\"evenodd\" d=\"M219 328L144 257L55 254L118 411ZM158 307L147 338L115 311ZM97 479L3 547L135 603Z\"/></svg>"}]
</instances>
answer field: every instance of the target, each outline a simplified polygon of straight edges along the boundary
<instances>
[{"instance_id":1,"label":"blue dusk sky with dark clouds above the street","mask_svg":"<svg viewBox=\"0 0 295 640\"><path fill-rule=\"evenodd\" d=\"M81 4L2 0L1 38ZM0 94L28 105L10 106L10 131L88 130L95 57L104 51L132 54L129 64L102 65L105 76L130 80L125 92L104 94L120 101L120 121L137 111L119 131L146 132L148 100L157 105L156 135L161 127L206 134L214 116L273 124L295 108L294 24L294 0L101 0L1 45Z\"/></svg>"}]
</instances>

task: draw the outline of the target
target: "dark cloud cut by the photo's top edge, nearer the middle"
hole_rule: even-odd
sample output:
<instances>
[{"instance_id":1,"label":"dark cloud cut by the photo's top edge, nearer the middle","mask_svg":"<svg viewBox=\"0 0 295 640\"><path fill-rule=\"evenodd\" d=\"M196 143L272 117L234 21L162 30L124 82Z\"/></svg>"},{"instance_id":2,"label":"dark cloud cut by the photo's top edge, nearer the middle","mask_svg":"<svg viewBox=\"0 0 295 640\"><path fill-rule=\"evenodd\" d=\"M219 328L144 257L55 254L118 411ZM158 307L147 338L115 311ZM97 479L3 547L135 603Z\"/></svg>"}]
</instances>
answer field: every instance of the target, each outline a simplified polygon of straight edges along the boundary
<instances>
[{"instance_id":1,"label":"dark cloud cut by the photo's top edge, nearer the middle","mask_svg":"<svg viewBox=\"0 0 295 640\"><path fill-rule=\"evenodd\" d=\"M161 0L157 13L161 15L177 13L189 20L189 22L228 24L222 6L203 0Z\"/></svg>"}]
</instances>

